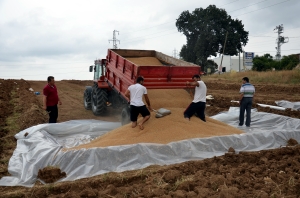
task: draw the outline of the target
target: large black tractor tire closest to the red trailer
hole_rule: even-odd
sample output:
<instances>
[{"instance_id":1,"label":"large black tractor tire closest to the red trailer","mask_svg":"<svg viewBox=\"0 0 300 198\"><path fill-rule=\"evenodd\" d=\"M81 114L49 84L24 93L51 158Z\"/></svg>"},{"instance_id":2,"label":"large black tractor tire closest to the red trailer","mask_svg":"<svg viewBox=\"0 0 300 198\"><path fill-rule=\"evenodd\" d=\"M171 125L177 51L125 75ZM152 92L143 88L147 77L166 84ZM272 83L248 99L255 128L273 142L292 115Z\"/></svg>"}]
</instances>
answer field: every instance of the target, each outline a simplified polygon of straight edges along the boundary
<instances>
[{"instance_id":1,"label":"large black tractor tire closest to the red trailer","mask_svg":"<svg viewBox=\"0 0 300 198\"><path fill-rule=\"evenodd\" d=\"M103 115L106 112L107 90L93 86L92 89L92 111L96 116Z\"/></svg>"}]
</instances>

